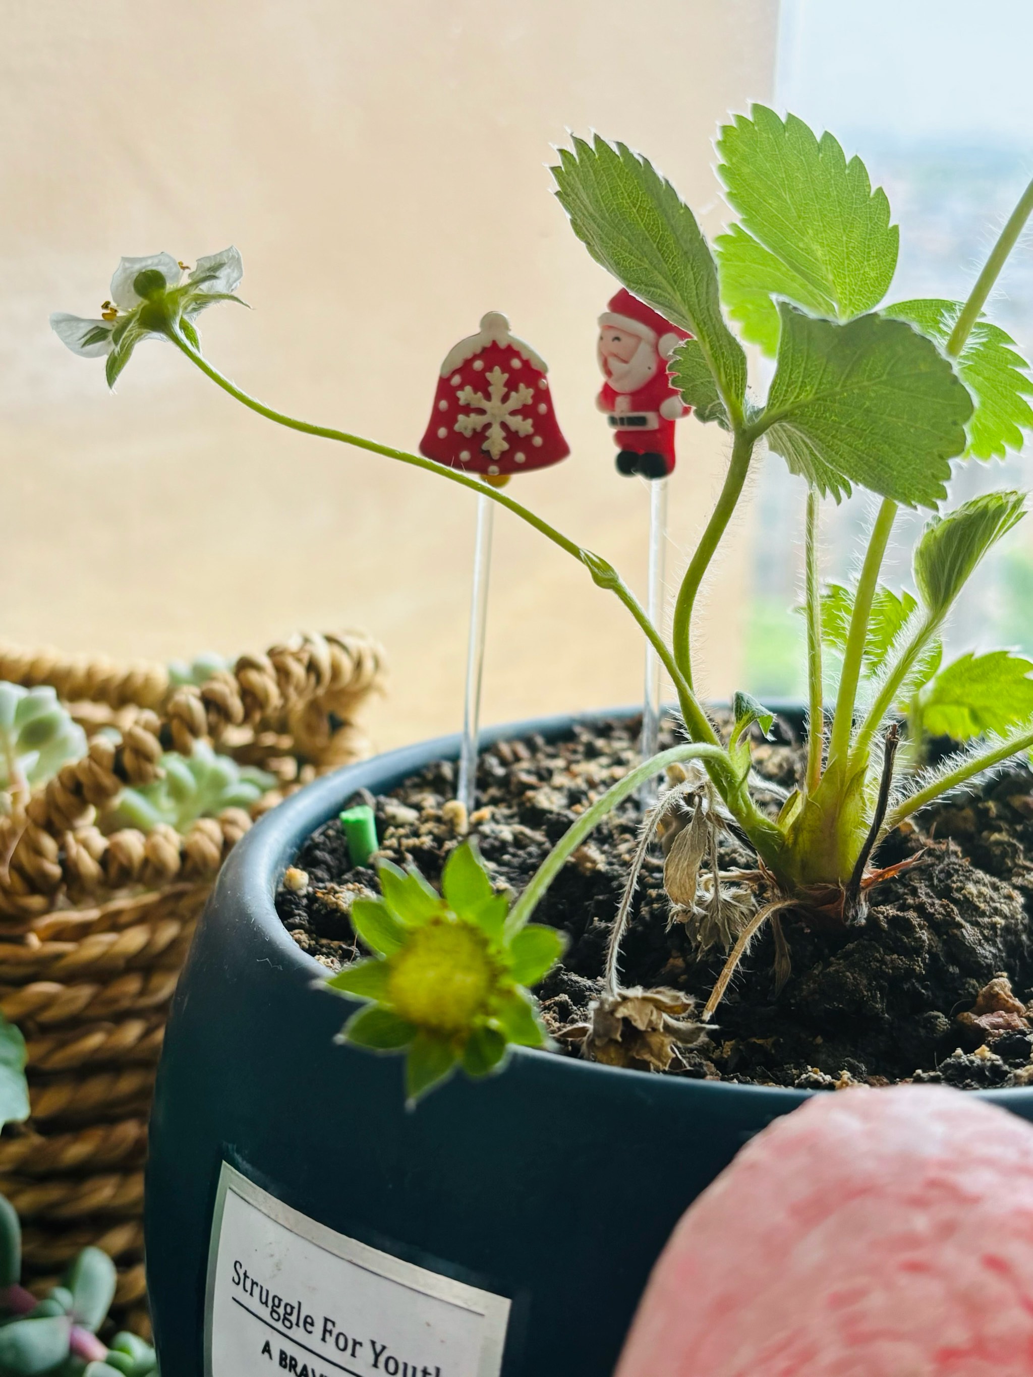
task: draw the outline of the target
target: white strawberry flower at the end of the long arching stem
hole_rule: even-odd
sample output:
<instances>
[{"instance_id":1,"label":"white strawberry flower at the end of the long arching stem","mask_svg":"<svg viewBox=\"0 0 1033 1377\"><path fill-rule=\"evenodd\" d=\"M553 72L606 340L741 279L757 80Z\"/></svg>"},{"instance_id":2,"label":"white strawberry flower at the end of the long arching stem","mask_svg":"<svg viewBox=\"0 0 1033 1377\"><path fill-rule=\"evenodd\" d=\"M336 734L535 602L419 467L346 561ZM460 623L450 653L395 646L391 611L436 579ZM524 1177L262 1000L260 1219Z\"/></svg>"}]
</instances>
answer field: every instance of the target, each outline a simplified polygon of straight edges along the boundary
<instances>
[{"instance_id":1,"label":"white strawberry flower at the end of the long arching stem","mask_svg":"<svg viewBox=\"0 0 1033 1377\"><path fill-rule=\"evenodd\" d=\"M182 336L200 348L194 319L216 302L244 306L234 295L242 277L244 264L233 246L198 259L193 270L171 253L124 257L114 270L112 296L102 304L99 319L55 311L50 324L73 354L107 355L107 386L114 387L140 340Z\"/></svg>"}]
</instances>

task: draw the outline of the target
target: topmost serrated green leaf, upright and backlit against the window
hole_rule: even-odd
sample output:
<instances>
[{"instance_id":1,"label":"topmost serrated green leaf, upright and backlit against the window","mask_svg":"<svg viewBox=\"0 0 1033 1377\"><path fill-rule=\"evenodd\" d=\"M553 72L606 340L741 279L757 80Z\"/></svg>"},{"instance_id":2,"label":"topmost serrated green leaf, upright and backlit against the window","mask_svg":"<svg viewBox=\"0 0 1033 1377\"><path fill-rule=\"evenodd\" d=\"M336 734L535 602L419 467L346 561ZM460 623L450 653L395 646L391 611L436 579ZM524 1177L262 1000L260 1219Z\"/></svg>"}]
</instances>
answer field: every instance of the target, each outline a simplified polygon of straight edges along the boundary
<instances>
[{"instance_id":1,"label":"topmost serrated green leaf, upright and backlit against the window","mask_svg":"<svg viewBox=\"0 0 1033 1377\"><path fill-rule=\"evenodd\" d=\"M718 154L729 204L781 264L770 291L842 321L879 304L897 267L899 231L861 158L847 162L831 134L818 139L795 114L782 121L763 105L724 125ZM774 264L755 255L755 275L764 266ZM793 296L792 280L811 295Z\"/></svg>"}]
</instances>

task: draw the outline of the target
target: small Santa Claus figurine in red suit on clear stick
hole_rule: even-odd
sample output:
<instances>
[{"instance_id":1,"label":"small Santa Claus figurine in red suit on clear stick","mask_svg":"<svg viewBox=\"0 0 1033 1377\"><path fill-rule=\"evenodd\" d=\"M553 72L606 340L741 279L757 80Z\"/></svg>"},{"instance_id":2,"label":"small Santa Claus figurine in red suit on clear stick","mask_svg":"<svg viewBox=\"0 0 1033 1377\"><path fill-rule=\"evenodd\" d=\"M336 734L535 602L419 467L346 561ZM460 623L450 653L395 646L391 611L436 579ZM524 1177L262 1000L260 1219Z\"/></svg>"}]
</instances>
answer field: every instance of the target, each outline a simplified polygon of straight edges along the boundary
<instances>
[{"instance_id":1,"label":"small Santa Claus figurine in red suit on clear stick","mask_svg":"<svg viewBox=\"0 0 1033 1377\"><path fill-rule=\"evenodd\" d=\"M606 381L596 406L609 416L617 470L667 478L675 468L675 421L689 414L671 386L667 362L689 332L671 325L625 288L599 317L599 368Z\"/></svg>"}]
</instances>

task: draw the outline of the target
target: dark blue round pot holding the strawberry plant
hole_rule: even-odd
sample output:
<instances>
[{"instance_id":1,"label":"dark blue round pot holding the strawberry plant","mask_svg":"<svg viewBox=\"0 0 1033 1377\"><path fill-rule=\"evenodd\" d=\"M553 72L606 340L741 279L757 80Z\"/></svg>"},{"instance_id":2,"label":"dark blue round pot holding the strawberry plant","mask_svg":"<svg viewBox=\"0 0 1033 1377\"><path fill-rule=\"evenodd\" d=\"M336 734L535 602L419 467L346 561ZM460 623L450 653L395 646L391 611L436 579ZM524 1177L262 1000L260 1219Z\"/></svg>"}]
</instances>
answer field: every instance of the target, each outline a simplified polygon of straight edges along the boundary
<instances>
[{"instance_id":1,"label":"dark blue round pot holding the strawberry plant","mask_svg":"<svg viewBox=\"0 0 1033 1377\"><path fill-rule=\"evenodd\" d=\"M485 744L561 737L574 720ZM504 1074L457 1077L406 1113L401 1059L335 1045L347 1007L313 990L322 967L277 917L280 876L355 789L383 793L457 753L449 737L320 779L223 868L176 990L150 1129L147 1283L169 1377L204 1371L223 1162L339 1234L510 1297L505 1377L605 1377L682 1212L804 1099L519 1051ZM1033 1120L1033 1091L988 1097Z\"/></svg>"}]
</instances>

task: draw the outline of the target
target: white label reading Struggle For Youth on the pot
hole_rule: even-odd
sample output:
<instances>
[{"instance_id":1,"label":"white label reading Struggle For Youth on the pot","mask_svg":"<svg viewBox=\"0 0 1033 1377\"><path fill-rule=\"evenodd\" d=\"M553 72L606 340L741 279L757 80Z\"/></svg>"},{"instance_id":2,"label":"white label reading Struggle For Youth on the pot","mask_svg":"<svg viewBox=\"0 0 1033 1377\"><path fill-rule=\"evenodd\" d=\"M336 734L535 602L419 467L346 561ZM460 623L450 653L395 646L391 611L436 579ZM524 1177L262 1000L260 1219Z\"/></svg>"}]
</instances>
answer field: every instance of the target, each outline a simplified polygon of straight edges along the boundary
<instances>
[{"instance_id":1,"label":"white label reading Struggle For Youth on the pot","mask_svg":"<svg viewBox=\"0 0 1033 1377\"><path fill-rule=\"evenodd\" d=\"M335 1234L223 1162L207 1377L499 1377L510 1301Z\"/></svg>"}]
</instances>

